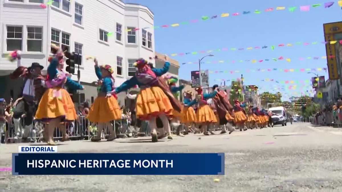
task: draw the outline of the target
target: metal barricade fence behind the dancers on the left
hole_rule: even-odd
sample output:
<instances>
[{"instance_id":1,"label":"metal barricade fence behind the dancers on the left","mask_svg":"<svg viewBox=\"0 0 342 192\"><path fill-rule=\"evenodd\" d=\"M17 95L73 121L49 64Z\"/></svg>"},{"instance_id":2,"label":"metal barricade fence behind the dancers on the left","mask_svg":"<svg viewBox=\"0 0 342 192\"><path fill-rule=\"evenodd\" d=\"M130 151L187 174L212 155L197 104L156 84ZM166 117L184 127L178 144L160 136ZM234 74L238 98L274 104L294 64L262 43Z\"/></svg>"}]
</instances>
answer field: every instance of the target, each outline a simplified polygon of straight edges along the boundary
<instances>
[{"instance_id":1,"label":"metal barricade fence behind the dancers on the left","mask_svg":"<svg viewBox=\"0 0 342 192\"><path fill-rule=\"evenodd\" d=\"M136 122L136 125L132 125L130 119L122 118L121 120L116 120L111 122L115 128L117 137L127 137L127 134L132 133L137 136L150 136L151 130L148 125L148 121ZM48 126L39 121L33 120L32 126L27 130L28 138L36 141L43 137L44 127ZM92 137L96 136L97 133L97 123L90 122L85 116L79 116L74 122L65 123L63 126L66 128L66 133L69 135L70 140L90 140ZM217 128L217 127L213 127ZM5 142L13 143L17 142L15 139L20 139L23 137L25 132L25 122L24 119L20 121L20 126L18 130L15 130L13 121L11 123L6 123L5 126ZM160 129L157 129L157 132ZM171 126L171 131L175 132L174 127ZM181 130L185 131L185 125L181 124ZM102 138L108 136L107 125L104 125L104 129L101 133ZM63 137L63 130L55 128L54 138L60 140ZM21 141L18 141L21 142Z\"/></svg>"}]
</instances>

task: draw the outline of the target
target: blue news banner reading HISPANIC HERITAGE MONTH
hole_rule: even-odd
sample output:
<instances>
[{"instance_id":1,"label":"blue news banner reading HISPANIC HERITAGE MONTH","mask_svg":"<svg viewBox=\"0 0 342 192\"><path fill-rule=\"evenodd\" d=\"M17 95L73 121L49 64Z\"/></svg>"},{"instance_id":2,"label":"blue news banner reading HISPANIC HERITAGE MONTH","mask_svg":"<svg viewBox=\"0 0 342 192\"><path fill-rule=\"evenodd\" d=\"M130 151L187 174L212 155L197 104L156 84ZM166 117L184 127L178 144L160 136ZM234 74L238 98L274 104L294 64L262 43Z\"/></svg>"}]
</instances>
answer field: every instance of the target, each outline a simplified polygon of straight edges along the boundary
<instances>
[{"instance_id":1,"label":"blue news banner reading HISPANIC HERITAGE MONTH","mask_svg":"<svg viewBox=\"0 0 342 192\"><path fill-rule=\"evenodd\" d=\"M13 153L12 174L224 175L224 153Z\"/></svg>"}]
</instances>

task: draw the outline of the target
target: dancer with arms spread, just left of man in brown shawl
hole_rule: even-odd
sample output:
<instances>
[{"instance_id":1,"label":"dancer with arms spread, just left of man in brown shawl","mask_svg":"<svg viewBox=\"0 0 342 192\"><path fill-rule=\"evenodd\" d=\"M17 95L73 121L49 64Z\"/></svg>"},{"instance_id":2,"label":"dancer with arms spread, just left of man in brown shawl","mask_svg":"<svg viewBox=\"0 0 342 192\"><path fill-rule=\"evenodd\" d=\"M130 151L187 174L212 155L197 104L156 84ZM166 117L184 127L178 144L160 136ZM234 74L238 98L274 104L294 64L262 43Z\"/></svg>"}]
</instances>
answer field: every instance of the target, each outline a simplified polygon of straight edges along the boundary
<instances>
[{"instance_id":1,"label":"dancer with arms spread, just left of man in brown shawl","mask_svg":"<svg viewBox=\"0 0 342 192\"><path fill-rule=\"evenodd\" d=\"M214 135L211 127L214 123L218 122L218 120L216 119L214 111L208 105L207 100L215 97L217 92L214 90L210 94L203 93L203 89L200 86L196 87L195 91L197 92L196 99L190 102L188 106L198 104L196 112L196 128L198 129L199 127L202 127L204 135L209 135L208 130Z\"/></svg>"}]
</instances>

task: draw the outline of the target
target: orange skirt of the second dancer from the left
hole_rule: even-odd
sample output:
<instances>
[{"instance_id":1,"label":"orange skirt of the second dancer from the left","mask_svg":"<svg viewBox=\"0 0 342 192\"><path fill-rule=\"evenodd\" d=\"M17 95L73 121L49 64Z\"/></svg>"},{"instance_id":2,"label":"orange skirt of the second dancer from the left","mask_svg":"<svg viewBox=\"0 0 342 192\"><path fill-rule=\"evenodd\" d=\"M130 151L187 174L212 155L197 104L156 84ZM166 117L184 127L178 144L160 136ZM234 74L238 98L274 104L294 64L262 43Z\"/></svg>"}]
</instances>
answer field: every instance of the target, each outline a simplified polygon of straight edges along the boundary
<instances>
[{"instance_id":1,"label":"orange skirt of the second dancer from the left","mask_svg":"<svg viewBox=\"0 0 342 192\"><path fill-rule=\"evenodd\" d=\"M94 123L107 123L121 119L118 101L113 96L98 96L89 110L87 119Z\"/></svg>"}]
</instances>

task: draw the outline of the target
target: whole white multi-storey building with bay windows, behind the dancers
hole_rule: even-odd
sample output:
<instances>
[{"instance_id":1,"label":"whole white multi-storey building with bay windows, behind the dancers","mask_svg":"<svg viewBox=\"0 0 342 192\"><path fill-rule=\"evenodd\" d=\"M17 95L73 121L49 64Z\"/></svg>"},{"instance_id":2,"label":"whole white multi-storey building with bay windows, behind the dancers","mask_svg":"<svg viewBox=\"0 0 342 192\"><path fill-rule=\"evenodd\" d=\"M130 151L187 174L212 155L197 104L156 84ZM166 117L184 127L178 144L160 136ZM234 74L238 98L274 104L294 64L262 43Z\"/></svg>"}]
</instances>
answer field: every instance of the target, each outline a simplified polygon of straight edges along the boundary
<instances>
[{"instance_id":1,"label":"whole white multi-storey building with bay windows, behind the dancers","mask_svg":"<svg viewBox=\"0 0 342 192\"><path fill-rule=\"evenodd\" d=\"M38 62L45 70L51 43L82 55L80 80L89 100L97 96L91 84L97 77L93 60L86 57L95 56L99 64L111 65L116 86L134 75L132 64L137 58L154 58L154 15L146 6L119 0L54 0L44 9L41 3L48 0L0 2L0 80L6 84L0 85L5 90L0 97L19 94L18 82L7 76L17 63L11 63L6 54L16 49L22 51L22 66ZM77 74L72 79L77 81Z\"/></svg>"}]
</instances>

